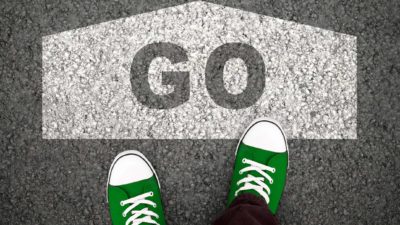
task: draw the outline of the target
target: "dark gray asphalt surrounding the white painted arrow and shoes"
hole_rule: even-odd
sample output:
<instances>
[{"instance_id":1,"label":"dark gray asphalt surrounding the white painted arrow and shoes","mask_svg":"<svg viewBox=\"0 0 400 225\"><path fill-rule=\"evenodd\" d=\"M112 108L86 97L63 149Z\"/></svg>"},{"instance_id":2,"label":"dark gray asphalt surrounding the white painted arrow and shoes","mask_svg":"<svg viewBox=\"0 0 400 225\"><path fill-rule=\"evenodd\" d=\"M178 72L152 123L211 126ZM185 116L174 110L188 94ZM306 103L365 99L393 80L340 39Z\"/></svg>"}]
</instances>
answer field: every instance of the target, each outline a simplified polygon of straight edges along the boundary
<instances>
[{"instance_id":1,"label":"dark gray asphalt surrounding the white painted arrow and shoes","mask_svg":"<svg viewBox=\"0 0 400 225\"><path fill-rule=\"evenodd\" d=\"M357 36L357 140L289 140L282 224L400 224L400 3L213 1ZM184 1L0 2L0 224L110 224L109 165L142 151L168 224L224 209L236 140L43 140L41 37Z\"/></svg>"}]
</instances>

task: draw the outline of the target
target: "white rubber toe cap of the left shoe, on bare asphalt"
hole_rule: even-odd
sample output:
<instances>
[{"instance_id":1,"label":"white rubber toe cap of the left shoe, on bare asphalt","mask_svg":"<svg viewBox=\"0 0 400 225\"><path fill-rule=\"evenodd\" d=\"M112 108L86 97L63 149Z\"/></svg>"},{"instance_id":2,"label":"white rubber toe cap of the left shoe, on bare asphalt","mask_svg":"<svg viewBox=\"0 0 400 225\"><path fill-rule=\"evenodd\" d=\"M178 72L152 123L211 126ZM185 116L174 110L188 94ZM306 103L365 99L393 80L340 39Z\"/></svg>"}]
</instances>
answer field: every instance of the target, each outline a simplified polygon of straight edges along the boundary
<instances>
[{"instance_id":1,"label":"white rubber toe cap of the left shoe, on bare asphalt","mask_svg":"<svg viewBox=\"0 0 400 225\"><path fill-rule=\"evenodd\" d=\"M152 176L151 165L140 153L126 151L115 158L110 169L109 184L119 186L149 179Z\"/></svg>"}]
</instances>

